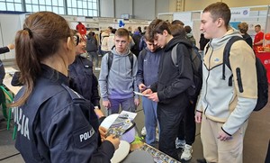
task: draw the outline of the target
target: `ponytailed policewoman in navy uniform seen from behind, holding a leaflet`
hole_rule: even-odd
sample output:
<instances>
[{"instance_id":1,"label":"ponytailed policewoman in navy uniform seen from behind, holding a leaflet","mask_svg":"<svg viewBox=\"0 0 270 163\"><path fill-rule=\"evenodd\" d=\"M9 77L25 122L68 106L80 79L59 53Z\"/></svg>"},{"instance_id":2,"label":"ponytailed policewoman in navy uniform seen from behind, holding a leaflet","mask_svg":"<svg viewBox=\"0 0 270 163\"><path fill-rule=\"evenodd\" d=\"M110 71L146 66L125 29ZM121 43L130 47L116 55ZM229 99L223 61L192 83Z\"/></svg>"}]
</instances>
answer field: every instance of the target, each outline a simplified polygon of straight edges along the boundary
<instances>
[{"instance_id":1,"label":"ponytailed policewoman in navy uniform seen from behind, holding a leaflet","mask_svg":"<svg viewBox=\"0 0 270 163\"><path fill-rule=\"evenodd\" d=\"M13 104L15 147L25 162L110 162L119 147L99 130L93 104L68 86L76 44L66 20L51 12L29 15L16 33L23 88Z\"/></svg>"}]
</instances>

